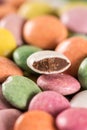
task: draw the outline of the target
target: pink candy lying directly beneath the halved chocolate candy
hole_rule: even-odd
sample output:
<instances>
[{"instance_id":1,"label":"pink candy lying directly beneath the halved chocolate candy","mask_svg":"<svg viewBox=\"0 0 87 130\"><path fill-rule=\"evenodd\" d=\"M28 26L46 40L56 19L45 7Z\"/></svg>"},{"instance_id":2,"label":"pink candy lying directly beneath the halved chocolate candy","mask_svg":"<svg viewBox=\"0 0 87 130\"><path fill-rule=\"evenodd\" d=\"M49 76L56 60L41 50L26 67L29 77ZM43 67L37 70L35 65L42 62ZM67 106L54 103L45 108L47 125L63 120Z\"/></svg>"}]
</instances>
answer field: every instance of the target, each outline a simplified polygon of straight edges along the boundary
<instances>
[{"instance_id":1,"label":"pink candy lying directly beneath the halved chocolate candy","mask_svg":"<svg viewBox=\"0 0 87 130\"><path fill-rule=\"evenodd\" d=\"M41 75L37 79L37 84L43 90L52 90L62 95L73 94L80 89L80 83L68 74Z\"/></svg>"}]
</instances>

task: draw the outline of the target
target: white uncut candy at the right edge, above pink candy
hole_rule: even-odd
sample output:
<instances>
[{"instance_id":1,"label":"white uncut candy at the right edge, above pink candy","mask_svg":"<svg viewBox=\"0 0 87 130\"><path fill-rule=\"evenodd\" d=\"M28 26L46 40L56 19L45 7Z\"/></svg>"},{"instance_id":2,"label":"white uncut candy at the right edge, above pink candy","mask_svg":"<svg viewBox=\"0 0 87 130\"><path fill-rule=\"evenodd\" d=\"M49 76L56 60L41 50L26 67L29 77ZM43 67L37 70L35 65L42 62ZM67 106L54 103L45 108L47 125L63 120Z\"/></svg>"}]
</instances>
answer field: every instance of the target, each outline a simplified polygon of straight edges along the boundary
<instances>
[{"instance_id":1,"label":"white uncut candy at the right edge, above pink candy","mask_svg":"<svg viewBox=\"0 0 87 130\"><path fill-rule=\"evenodd\" d=\"M87 90L77 93L70 101L72 107L87 108Z\"/></svg>"}]
</instances>

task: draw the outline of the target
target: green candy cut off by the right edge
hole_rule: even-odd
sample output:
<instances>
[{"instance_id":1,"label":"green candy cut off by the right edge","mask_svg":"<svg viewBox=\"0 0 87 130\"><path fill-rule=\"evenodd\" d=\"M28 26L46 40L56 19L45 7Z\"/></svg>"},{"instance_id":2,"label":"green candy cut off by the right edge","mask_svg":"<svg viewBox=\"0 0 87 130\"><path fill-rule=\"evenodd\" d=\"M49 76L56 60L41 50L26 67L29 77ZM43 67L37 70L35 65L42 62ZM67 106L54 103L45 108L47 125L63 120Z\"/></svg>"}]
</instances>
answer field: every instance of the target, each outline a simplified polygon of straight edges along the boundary
<instances>
[{"instance_id":1,"label":"green candy cut off by the right edge","mask_svg":"<svg viewBox=\"0 0 87 130\"><path fill-rule=\"evenodd\" d=\"M85 58L79 66L78 79L81 86L87 89L87 58Z\"/></svg>"}]
</instances>

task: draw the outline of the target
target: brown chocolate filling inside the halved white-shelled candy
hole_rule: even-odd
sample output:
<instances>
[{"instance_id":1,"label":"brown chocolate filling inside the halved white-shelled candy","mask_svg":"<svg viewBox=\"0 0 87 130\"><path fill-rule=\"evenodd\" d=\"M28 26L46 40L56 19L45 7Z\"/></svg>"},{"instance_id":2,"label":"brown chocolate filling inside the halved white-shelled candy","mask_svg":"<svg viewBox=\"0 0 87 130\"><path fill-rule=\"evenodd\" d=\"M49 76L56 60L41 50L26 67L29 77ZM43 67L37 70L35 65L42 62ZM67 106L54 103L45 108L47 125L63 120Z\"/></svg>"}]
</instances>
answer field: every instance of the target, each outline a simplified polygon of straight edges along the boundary
<instances>
[{"instance_id":1,"label":"brown chocolate filling inside the halved white-shelled candy","mask_svg":"<svg viewBox=\"0 0 87 130\"><path fill-rule=\"evenodd\" d=\"M33 67L44 72L58 71L66 67L69 63L62 58L45 58L39 61L34 61Z\"/></svg>"}]
</instances>

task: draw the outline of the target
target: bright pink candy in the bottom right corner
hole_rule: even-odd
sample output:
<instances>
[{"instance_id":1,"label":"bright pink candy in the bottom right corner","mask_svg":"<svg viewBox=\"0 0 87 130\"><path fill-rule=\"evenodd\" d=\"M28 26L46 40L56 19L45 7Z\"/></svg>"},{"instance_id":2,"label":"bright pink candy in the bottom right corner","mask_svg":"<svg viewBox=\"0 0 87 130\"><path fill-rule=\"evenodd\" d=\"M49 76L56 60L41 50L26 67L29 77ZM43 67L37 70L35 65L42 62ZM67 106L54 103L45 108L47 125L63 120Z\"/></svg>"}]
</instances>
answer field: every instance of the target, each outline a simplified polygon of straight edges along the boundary
<instances>
[{"instance_id":1,"label":"bright pink candy in the bottom right corner","mask_svg":"<svg viewBox=\"0 0 87 130\"><path fill-rule=\"evenodd\" d=\"M70 108L57 116L56 125L59 130L86 130L86 119L86 108Z\"/></svg>"}]
</instances>

